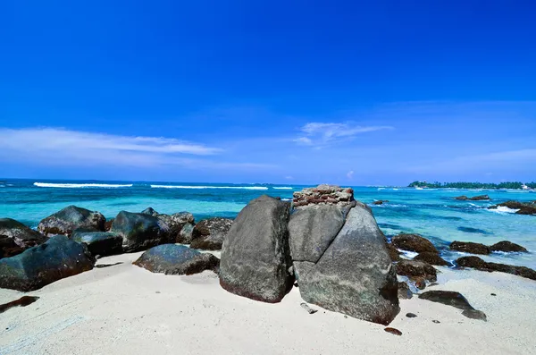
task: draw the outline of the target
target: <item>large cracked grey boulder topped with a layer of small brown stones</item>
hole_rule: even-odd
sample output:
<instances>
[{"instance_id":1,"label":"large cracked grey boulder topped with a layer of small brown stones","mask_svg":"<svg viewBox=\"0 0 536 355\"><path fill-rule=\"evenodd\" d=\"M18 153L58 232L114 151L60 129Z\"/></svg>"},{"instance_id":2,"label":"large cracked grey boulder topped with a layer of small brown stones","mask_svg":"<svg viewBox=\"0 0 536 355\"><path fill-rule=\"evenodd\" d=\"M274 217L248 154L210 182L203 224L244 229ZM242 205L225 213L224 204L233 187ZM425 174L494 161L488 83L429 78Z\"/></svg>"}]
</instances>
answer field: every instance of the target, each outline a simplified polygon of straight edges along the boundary
<instances>
[{"instance_id":1,"label":"large cracked grey boulder topped with a layer of small brown stones","mask_svg":"<svg viewBox=\"0 0 536 355\"><path fill-rule=\"evenodd\" d=\"M326 194L330 197L322 199ZM333 195L342 199L336 201ZM302 298L351 317L389 324L399 311L398 281L370 207L356 202L351 189L322 185L295 193L294 206L290 249Z\"/></svg>"}]
</instances>

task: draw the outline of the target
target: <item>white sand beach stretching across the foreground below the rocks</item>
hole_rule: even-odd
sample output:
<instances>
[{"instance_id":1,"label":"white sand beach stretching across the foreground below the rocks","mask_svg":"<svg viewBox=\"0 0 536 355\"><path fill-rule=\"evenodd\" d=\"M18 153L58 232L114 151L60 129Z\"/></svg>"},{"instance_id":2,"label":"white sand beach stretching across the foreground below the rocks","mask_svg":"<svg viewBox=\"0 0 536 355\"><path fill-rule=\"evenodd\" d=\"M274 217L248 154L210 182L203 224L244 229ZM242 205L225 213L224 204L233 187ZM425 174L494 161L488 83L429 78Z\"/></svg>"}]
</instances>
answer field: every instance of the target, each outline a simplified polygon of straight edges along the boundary
<instances>
[{"instance_id":1,"label":"white sand beach stretching across the foreground below the rocks","mask_svg":"<svg viewBox=\"0 0 536 355\"><path fill-rule=\"evenodd\" d=\"M222 290L212 272L132 266L139 255L100 259L124 264L29 292L40 299L0 314L0 354L536 353L536 282L514 275L441 269L440 285L428 290L462 292L488 322L414 296L389 325L397 336L314 305L320 310L309 315L296 288L279 304L256 302ZM0 290L0 303L22 295Z\"/></svg>"}]
</instances>

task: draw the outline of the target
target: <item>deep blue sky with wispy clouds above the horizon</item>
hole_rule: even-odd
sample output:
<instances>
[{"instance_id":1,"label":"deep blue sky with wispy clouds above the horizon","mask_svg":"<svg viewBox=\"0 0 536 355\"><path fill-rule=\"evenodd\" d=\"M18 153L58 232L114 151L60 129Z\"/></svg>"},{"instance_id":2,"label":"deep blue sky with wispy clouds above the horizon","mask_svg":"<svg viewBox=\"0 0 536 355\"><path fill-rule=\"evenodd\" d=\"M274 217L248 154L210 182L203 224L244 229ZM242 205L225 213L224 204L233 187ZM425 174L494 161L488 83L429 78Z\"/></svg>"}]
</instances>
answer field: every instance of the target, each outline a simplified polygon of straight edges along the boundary
<instances>
[{"instance_id":1,"label":"deep blue sky with wispy clouds above the horizon","mask_svg":"<svg viewBox=\"0 0 536 355\"><path fill-rule=\"evenodd\" d=\"M17 1L4 178L536 180L532 1Z\"/></svg>"}]
</instances>

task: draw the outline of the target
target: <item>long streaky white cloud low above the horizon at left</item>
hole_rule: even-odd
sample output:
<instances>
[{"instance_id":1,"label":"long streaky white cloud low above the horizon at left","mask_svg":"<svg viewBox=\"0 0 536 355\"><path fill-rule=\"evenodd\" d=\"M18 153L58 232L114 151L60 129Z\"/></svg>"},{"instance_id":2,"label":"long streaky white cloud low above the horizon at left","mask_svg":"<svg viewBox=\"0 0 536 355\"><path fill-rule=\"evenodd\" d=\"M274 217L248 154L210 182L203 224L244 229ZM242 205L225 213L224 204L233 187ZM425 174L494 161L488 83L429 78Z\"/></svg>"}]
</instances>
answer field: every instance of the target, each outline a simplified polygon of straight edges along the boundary
<instances>
[{"instance_id":1,"label":"long streaky white cloud low above the horizon at left","mask_svg":"<svg viewBox=\"0 0 536 355\"><path fill-rule=\"evenodd\" d=\"M40 166L179 165L188 169L273 168L273 165L226 162L195 156L212 156L222 149L204 144L159 137L129 137L56 128L0 128L0 161Z\"/></svg>"}]
</instances>

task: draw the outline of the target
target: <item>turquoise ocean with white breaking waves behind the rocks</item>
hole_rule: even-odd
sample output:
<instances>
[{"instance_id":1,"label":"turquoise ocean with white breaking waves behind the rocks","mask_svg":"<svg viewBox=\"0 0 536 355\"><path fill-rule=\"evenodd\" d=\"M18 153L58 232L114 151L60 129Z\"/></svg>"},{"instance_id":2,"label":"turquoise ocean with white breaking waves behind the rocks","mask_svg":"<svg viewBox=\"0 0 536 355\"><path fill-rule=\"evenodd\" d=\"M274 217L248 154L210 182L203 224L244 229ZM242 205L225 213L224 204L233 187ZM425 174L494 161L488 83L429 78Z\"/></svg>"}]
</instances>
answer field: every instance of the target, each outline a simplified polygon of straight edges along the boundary
<instances>
[{"instance_id":1,"label":"turquoise ocean with white breaking waves behind the rocks","mask_svg":"<svg viewBox=\"0 0 536 355\"><path fill-rule=\"evenodd\" d=\"M37 227L38 222L68 205L100 211L112 218L121 210L140 212L153 207L159 213L189 211L196 220L210 216L235 217L247 202L267 194L292 199L304 185L186 183L186 182L95 182L3 180L0 182L0 217L10 217ZM461 190L392 187L353 187L356 199L369 204L381 230L389 237L415 232L430 239L444 258L465 254L451 252L451 241L493 244L513 241L529 253L493 253L487 261L536 268L536 216L515 215L507 208L487 207L507 200L536 200L534 191ZM458 201L456 196L487 194L490 201ZM389 200L383 205L373 201ZM411 256L411 255L409 255Z\"/></svg>"}]
</instances>

